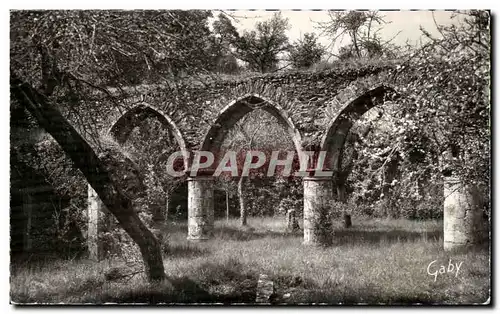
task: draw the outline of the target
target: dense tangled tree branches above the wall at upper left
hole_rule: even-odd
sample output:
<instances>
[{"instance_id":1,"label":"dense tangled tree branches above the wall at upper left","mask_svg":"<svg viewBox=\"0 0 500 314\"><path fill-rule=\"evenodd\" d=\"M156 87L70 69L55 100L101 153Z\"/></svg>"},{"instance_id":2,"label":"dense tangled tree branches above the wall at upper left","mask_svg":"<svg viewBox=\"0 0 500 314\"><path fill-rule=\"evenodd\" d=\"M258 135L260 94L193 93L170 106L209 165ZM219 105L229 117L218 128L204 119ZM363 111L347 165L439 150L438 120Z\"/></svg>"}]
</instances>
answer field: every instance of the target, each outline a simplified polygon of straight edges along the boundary
<instances>
[{"instance_id":1,"label":"dense tangled tree branches above the wall at upper left","mask_svg":"<svg viewBox=\"0 0 500 314\"><path fill-rule=\"evenodd\" d=\"M194 74L214 64L210 16L200 10L12 11L13 68L39 83L47 59L59 79L99 86Z\"/></svg>"}]
</instances>

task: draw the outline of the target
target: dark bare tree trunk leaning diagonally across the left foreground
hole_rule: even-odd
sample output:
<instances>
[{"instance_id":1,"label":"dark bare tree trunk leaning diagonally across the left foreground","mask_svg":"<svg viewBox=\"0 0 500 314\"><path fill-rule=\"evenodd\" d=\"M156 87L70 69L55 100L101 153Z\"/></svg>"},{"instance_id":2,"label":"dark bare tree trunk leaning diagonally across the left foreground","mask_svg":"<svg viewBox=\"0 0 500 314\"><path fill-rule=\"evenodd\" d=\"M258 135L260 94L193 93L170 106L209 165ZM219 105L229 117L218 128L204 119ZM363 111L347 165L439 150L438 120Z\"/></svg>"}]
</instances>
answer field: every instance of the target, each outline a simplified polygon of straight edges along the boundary
<instances>
[{"instance_id":1,"label":"dark bare tree trunk leaning diagonally across the left foreground","mask_svg":"<svg viewBox=\"0 0 500 314\"><path fill-rule=\"evenodd\" d=\"M158 240L134 212L131 200L113 184L110 174L83 137L71 126L45 96L29 84L12 77L11 93L62 147L80 169L120 226L139 246L146 274L151 281L165 279Z\"/></svg>"}]
</instances>

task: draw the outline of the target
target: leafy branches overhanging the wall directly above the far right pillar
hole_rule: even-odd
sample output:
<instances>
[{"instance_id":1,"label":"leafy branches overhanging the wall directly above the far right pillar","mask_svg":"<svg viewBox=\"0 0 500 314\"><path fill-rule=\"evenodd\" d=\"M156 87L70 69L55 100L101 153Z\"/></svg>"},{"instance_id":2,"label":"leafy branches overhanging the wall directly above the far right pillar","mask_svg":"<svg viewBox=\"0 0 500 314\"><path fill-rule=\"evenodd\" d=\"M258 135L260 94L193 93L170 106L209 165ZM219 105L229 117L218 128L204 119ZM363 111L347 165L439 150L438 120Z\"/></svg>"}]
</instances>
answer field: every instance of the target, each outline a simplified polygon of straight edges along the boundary
<instances>
[{"instance_id":1,"label":"leafy branches overhanging the wall directly above the far right pillar","mask_svg":"<svg viewBox=\"0 0 500 314\"><path fill-rule=\"evenodd\" d=\"M462 23L439 26L443 37L430 37L401 69L409 83L400 112L407 127L399 126L398 140L414 148L420 143L425 156L433 156L435 173L453 170L477 184L490 177L490 16L459 16Z\"/></svg>"}]
</instances>

